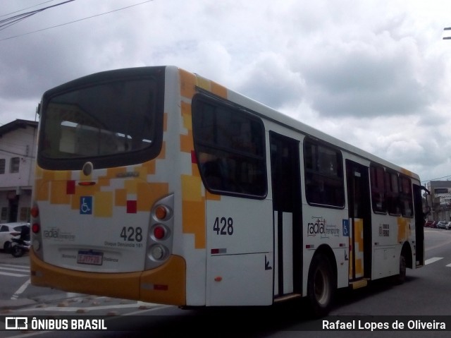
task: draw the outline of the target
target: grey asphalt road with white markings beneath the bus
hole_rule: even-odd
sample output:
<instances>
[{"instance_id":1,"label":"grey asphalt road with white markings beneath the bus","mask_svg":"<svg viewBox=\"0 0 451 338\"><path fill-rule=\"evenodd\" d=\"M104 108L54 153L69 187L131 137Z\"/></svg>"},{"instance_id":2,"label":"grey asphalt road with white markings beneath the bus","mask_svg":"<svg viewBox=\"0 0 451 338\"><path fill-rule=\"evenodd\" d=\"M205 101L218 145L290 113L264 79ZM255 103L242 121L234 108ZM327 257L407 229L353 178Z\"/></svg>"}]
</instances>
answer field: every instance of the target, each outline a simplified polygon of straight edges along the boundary
<instances>
[{"instance_id":1,"label":"grey asphalt road with white markings beneath the bus","mask_svg":"<svg viewBox=\"0 0 451 338\"><path fill-rule=\"evenodd\" d=\"M451 231L443 229L425 229L426 265L418 270L407 270L406 282L395 285L390 279L371 283L368 287L354 291L340 291L331 318L365 318L373 322L383 322L383 316L391 319L409 321L416 316L420 320L451 320ZM26 258L5 258L0 253L1 266L26 266ZM8 264L10 264L8 263ZM10 270L11 271L11 270ZM14 277L1 277L2 282ZM25 283L27 277L20 279L18 285ZM39 289L39 290L35 290ZM4 294L10 296L16 291ZM12 292L12 294L11 294ZM33 303L5 308L3 315L104 315L107 327L115 331L65 332L70 337L179 337L180 334L191 337L192 334L210 334L214 337L449 337L451 324L447 330L419 331L310 331L314 320L302 310L302 302L277 304L268 308L220 308L199 310L181 310L173 306L160 306L152 303L140 303L95 297L79 294L66 294L54 291L49 294L45 288L27 286L16 301L29 299ZM18 303L17 303L18 304ZM0 300L0 309L1 309ZM350 316L350 317L348 317ZM356 317L358 316L358 317ZM317 326L316 326L317 327ZM128 331L127 331L128 330ZM14 332L1 332L0 337L17 337ZM22 332L25 334L26 332ZM61 332L34 332L42 337L61 337ZM150 334L150 335L149 335ZM21 336L20 336L21 337ZM25 336L24 336L25 337Z\"/></svg>"}]
</instances>

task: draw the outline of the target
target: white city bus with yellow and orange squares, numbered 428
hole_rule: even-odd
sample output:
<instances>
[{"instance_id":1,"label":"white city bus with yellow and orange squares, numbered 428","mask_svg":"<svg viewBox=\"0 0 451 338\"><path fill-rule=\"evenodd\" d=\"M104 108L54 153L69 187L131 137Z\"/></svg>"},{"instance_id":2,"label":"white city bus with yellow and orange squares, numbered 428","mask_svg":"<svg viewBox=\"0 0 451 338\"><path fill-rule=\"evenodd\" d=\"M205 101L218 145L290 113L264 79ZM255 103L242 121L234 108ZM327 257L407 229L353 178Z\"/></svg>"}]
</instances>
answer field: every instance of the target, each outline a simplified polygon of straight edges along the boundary
<instances>
[{"instance_id":1,"label":"white city bus with yellow and orange squares, numbered 428","mask_svg":"<svg viewBox=\"0 0 451 338\"><path fill-rule=\"evenodd\" d=\"M33 285L326 315L424 265L419 176L197 74L95 73L39 107Z\"/></svg>"}]
</instances>

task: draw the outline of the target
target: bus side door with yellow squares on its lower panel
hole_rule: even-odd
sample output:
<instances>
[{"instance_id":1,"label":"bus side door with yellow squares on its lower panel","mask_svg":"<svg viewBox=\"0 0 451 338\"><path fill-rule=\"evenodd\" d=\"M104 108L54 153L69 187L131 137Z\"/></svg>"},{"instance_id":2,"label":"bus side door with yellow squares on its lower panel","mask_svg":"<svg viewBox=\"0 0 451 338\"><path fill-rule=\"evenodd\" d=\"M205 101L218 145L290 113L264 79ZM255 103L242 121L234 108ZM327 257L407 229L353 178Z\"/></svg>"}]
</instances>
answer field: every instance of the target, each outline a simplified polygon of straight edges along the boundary
<instances>
[{"instance_id":1,"label":"bus side door with yellow squares on its lower panel","mask_svg":"<svg viewBox=\"0 0 451 338\"><path fill-rule=\"evenodd\" d=\"M351 283L371 278L371 200L368 172L368 167L346 160Z\"/></svg>"}]
</instances>

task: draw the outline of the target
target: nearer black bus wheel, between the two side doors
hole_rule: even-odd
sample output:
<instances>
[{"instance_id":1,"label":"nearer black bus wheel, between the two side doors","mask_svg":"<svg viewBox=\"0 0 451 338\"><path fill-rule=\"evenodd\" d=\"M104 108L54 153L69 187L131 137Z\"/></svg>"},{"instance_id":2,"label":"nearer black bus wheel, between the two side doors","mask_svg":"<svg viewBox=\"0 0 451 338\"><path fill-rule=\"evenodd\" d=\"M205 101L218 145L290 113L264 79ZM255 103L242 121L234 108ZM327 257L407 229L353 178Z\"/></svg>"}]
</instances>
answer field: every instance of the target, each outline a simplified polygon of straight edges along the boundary
<instances>
[{"instance_id":1,"label":"nearer black bus wheel, between the two side doors","mask_svg":"<svg viewBox=\"0 0 451 338\"><path fill-rule=\"evenodd\" d=\"M307 281L307 297L315 317L329 313L335 293L335 282L330 262L324 255L314 255Z\"/></svg>"}]
</instances>

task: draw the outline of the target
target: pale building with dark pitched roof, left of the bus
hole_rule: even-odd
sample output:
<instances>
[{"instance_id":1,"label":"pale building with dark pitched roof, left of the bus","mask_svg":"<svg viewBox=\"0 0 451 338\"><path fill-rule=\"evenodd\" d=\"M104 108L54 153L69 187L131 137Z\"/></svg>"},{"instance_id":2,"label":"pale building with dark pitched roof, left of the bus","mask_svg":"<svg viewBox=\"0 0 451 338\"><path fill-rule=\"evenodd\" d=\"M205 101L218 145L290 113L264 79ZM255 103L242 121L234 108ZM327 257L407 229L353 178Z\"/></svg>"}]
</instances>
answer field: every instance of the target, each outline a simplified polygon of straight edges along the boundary
<instances>
[{"instance_id":1,"label":"pale building with dark pitched roof, left of the bus","mask_svg":"<svg viewBox=\"0 0 451 338\"><path fill-rule=\"evenodd\" d=\"M0 126L0 222L30 220L36 143L36 121Z\"/></svg>"}]
</instances>

